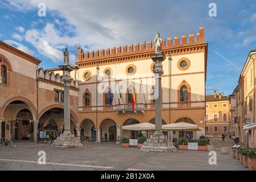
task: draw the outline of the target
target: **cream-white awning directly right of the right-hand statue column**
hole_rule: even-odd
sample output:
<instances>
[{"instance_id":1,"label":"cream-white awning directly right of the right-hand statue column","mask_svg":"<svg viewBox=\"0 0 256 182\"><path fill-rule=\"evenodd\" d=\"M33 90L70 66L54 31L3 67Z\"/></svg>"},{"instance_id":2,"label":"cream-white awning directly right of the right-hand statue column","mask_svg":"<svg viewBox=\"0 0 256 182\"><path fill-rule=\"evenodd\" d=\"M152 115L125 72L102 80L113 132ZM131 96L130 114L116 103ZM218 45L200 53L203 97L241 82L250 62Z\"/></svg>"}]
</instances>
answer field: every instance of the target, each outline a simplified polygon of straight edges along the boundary
<instances>
[{"instance_id":1,"label":"cream-white awning directly right of the right-hand statue column","mask_svg":"<svg viewBox=\"0 0 256 182\"><path fill-rule=\"evenodd\" d=\"M191 123L179 122L162 126L163 130L173 131L204 131L203 128Z\"/></svg>"}]
</instances>

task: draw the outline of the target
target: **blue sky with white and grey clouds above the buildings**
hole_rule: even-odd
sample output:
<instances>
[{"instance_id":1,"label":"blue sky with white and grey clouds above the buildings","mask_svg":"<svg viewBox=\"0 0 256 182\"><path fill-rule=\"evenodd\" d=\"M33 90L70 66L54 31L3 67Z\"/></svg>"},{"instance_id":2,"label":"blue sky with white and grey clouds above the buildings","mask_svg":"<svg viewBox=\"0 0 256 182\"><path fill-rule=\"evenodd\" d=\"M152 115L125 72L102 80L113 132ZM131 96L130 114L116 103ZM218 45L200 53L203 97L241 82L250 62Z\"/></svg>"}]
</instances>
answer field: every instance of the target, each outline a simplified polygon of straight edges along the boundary
<instances>
[{"instance_id":1,"label":"blue sky with white and grey clouds above the buildings","mask_svg":"<svg viewBox=\"0 0 256 182\"><path fill-rule=\"evenodd\" d=\"M40 3L46 5L46 16ZM209 16L210 3L216 16ZM0 0L0 40L35 56L44 69L63 63L75 44L84 51L196 34L208 43L207 94L232 94L246 57L256 49L256 1Z\"/></svg>"}]
</instances>

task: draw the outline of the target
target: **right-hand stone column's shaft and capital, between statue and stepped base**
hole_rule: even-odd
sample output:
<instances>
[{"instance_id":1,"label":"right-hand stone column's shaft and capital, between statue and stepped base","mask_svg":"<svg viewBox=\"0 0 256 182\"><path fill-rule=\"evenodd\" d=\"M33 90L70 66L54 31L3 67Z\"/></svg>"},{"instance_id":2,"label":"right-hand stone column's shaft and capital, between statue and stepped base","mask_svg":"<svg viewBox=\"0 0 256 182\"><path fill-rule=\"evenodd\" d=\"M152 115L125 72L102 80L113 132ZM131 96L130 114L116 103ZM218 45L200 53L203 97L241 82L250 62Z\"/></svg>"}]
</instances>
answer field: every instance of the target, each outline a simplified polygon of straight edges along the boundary
<instances>
[{"instance_id":1,"label":"right-hand stone column's shaft and capital, between statue and stepped base","mask_svg":"<svg viewBox=\"0 0 256 182\"><path fill-rule=\"evenodd\" d=\"M162 134L162 61L166 59L163 53L155 53L150 55L151 59L155 62L155 133Z\"/></svg>"}]
</instances>

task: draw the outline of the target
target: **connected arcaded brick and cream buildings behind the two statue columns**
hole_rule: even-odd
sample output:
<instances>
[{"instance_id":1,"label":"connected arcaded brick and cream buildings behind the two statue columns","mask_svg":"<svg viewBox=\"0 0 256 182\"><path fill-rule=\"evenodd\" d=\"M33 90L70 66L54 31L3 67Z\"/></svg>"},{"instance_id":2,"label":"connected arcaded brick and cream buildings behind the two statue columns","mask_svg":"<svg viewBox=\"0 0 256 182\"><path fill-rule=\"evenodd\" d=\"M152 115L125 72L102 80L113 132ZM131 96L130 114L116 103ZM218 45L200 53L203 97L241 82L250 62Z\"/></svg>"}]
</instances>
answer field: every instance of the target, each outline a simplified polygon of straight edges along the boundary
<instances>
[{"instance_id":1,"label":"connected arcaded brick and cream buildings behind the two statue columns","mask_svg":"<svg viewBox=\"0 0 256 182\"><path fill-rule=\"evenodd\" d=\"M3 133L8 134L6 125L11 127L11 137L17 139L27 131L61 132L63 73L58 68L44 71L38 68L40 61L34 57L3 42L0 46L0 57L7 68L7 76L2 74L7 82L0 84L2 137ZM174 42L168 38L162 47L166 55L162 76L163 123L184 121L205 127L208 44L204 42L204 28L199 29L196 39L194 34L189 35L189 41L187 35L181 41L179 37ZM106 133L107 140L115 141L121 135L134 137L133 132L121 132L124 125L154 123L154 64L150 58L154 52L152 42L90 52L79 48L71 72L72 133L98 142L105 140ZM122 98L118 103L119 96Z\"/></svg>"}]
</instances>

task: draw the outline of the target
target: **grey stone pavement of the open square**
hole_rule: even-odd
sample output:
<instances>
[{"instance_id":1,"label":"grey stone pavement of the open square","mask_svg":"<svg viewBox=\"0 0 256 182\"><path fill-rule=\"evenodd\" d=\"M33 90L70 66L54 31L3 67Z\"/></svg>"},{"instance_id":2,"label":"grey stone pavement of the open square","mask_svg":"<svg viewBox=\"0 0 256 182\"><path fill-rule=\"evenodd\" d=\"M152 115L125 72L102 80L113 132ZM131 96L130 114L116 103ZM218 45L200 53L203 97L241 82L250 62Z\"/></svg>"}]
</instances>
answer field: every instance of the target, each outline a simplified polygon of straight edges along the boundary
<instances>
[{"instance_id":1,"label":"grey stone pavement of the open square","mask_svg":"<svg viewBox=\"0 0 256 182\"><path fill-rule=\"evenodd\" d=\"M46 151L45 165L38 152ZM83 148L56 149L49 144L18 142L0 147L0 170L247 170L229 154L217 152L217 164L207 151L141 152L114 143L89 143Z\"/></svg>"}]
</instances>

